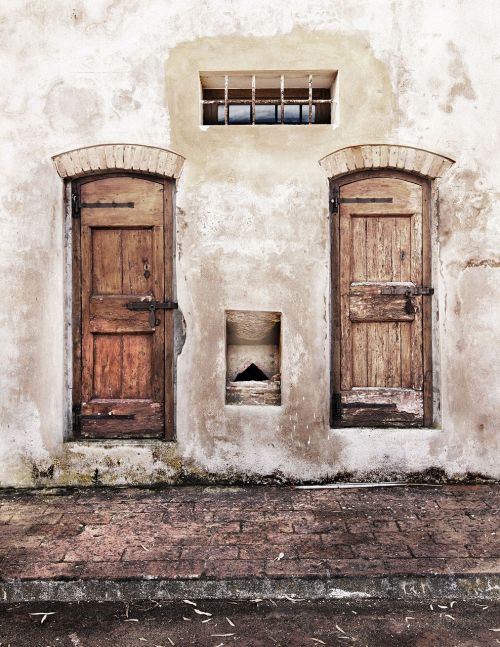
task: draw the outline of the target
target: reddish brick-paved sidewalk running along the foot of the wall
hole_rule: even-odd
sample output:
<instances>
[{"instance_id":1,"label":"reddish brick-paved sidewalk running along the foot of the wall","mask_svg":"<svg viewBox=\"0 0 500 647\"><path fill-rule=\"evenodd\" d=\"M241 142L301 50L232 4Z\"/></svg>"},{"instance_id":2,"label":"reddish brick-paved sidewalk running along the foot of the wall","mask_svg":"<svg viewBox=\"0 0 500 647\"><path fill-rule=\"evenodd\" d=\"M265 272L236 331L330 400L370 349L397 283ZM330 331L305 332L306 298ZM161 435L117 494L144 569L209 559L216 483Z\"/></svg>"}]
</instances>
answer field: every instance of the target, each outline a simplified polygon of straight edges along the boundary
<instances>
[{"instance_id":1,"label":"reddish brick-paved sidewalk running along the foot of the wall","mask_svg":"<svg viewBox=\"0 0 500 647\"><path fill-rule=\"evenodd\" d=\"M280 581L306 591L294 588L299 580L359 592L363 578L385 578L387 588L400 576L412 585L451 577L450 586L464 576L500 596L500 486L0 492L6 599L120 598L139 591L134 581L161 581L161 591L150 586L147 595L167 597L185 595L190 582L205 583L193 591L209 597L237 587L271 596L270 582ZM61 592L64 582L73 582L72 593Z\"/></svg>"}]
</instances>

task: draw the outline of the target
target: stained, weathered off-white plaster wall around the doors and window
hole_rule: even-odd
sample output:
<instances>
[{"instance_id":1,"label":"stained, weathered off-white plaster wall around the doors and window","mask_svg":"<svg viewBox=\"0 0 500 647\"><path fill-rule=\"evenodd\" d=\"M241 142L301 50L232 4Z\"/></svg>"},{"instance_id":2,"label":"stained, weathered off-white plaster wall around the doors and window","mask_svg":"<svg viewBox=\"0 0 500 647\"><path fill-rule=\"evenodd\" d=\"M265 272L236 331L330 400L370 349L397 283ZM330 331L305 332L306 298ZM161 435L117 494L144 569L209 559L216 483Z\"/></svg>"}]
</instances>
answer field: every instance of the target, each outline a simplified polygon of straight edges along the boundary
<instances>
[{"instance_id":1,"label":"stained, weathered off-white plaster wall around the doors and window","mask_svg":"<svg viewBox=\"0 0 500 647\"><path fill-rule=\"evenodd\" d=\"M0 484L182 475L500 477L500 6L493 0L3 0ZM471 37L472 35L472 37ZM200 127L200 70L339 70L335 127ZM64 442L64 187L51 156L138 143L177 185L177 441ZM328 181L392 143L434 187L432 429L329 429ZM282 406L225 406L225 310L282 313ZM52 467L51 467L52 466Z\"/></svg>"}]
</instances>

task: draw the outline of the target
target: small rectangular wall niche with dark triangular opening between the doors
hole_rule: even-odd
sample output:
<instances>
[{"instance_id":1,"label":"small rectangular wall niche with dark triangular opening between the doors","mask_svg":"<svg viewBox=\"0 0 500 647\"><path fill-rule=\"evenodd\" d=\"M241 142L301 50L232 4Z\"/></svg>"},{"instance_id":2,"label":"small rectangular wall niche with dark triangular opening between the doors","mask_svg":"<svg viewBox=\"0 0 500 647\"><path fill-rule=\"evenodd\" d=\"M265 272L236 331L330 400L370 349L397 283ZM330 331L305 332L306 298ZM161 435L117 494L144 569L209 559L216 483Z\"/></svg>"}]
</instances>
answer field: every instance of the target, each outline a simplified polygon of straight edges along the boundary
<instances>
[{"instance_id":1,"label":"small rectangular wall niche with dark triangular opening between the doors","mask_svg":"<svg viewBox=\"0 0 500 647\"><path fill-rule=\"evenodd\" d=\"M281 404L281 313L226 311L226 404Z\"/></svg>"}]
</instances>

